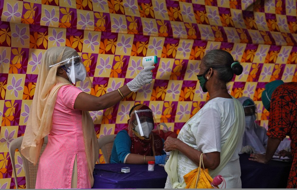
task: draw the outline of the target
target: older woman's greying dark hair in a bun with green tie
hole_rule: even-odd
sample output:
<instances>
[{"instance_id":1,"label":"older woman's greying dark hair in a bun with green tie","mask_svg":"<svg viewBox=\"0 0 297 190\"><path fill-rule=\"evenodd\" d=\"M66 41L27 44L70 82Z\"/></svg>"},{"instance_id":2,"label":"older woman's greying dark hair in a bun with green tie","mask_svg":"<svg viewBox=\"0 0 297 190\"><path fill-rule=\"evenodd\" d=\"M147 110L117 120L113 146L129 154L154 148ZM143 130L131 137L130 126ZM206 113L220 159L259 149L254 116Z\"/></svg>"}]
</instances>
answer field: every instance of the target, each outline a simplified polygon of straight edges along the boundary
<instances>
[{"instance_id":1,"label":"older woman's greying dark hair in a bun with green tie","mask_svg":"<svg viewBox=\"0 0 297 190\"><path fill-rule=\"evenodd\" d=\"M219 79L226 83L232 80L234 74L240 75L243 70L241 64L225 50L210 50L204 55L201 62L207 69L215 69L219 73ZM231 68L231 64L234 62L238 62L238 64L234 64Z\"/></svg>"}]
</instances>

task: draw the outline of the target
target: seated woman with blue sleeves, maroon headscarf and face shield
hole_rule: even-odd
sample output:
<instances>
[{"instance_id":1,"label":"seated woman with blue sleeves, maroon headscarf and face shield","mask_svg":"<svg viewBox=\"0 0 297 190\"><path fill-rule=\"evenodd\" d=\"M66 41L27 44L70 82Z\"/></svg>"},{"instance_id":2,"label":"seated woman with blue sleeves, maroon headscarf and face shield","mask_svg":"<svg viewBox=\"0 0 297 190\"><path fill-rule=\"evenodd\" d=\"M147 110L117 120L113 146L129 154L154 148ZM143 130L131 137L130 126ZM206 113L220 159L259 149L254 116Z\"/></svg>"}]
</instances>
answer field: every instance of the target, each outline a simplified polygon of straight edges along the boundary
<instances>
[{"instance_id":1,"label":"seated woman with blue sleeves, maroon headscarf and face shield","mask_svg":"<svg viewBox=\"0 0 297 190\"><path fill-rule=\"evenodd\" d=\"M129 116L128 127L118 132L114 139L110 163L147 164L155 161L155 164L165 164L166 153L152 110L138 104L132 107Z\"/></svg>"}]
</instances>

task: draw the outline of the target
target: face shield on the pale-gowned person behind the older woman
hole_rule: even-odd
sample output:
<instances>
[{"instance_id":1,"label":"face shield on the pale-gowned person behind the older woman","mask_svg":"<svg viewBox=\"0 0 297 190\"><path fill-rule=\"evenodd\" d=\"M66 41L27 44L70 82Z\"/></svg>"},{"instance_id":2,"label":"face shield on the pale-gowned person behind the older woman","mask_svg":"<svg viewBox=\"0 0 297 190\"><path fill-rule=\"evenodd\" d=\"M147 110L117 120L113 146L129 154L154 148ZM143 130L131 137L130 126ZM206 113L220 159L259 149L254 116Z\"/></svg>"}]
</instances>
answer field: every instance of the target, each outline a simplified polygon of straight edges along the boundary
<instances>
[{"instance_id":1,"label":"face shield on the pale-gowned person behind the older woman","mask_svg":"<svg viewBox=\"0 0 297 190\"><path fill-rule=\"evenodd\" d=\"M243 106L245 115L245 128L254 129L259 125L257 105L246 105Z\"/></svg>"}]
</instances>

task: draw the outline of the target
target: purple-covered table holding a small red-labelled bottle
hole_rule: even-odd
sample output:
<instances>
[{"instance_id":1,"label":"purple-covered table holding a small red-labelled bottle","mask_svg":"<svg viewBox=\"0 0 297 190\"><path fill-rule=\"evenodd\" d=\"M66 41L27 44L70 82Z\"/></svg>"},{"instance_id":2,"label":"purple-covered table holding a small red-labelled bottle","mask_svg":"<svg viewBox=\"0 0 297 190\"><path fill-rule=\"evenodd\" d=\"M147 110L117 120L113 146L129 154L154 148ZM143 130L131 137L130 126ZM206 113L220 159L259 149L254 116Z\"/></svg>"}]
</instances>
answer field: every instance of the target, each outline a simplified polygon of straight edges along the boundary
<instances>
[{"instance_id":1,"label":"purple-covered table holding a small red-labelled bottle","mask_svg":"<svg viewBox=\"0 0 297 190\"><path fill-rule=\"evenodd\" d=\"M119 174L101 170L120 172L122 167L130 167L130 173ZM101 169L101 170L100 170ZM92 188L164 188L167 173L164 167L155 165L148 171L148 164L96 164L93 172Z\"/></svg>"}]
</instances>

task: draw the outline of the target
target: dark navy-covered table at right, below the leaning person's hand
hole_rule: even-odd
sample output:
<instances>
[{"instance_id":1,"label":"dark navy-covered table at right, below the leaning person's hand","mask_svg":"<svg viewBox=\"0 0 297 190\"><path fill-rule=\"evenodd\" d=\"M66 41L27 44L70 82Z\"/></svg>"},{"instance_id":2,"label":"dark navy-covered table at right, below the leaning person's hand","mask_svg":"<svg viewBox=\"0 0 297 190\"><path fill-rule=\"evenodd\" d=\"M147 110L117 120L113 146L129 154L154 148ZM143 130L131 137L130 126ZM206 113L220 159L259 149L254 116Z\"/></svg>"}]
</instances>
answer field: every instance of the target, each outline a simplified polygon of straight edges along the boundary
<instances>
[{"instance_id":1,"label":"dark navy-covered table at right, below the leaning person's hand","mask_svg":"<svg viewBox=\"0 0 297 190\"><path fill-rule=\"evenodd\" d=\"M239 154L242 188L286 188L292 162L250 161L249 154Z\"/></svg>"}]
</instances>

